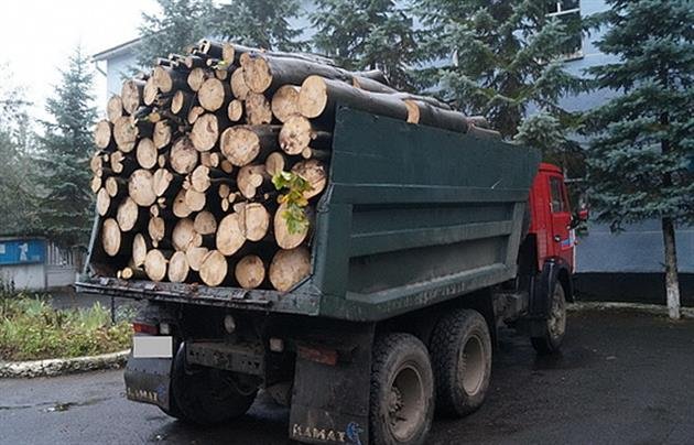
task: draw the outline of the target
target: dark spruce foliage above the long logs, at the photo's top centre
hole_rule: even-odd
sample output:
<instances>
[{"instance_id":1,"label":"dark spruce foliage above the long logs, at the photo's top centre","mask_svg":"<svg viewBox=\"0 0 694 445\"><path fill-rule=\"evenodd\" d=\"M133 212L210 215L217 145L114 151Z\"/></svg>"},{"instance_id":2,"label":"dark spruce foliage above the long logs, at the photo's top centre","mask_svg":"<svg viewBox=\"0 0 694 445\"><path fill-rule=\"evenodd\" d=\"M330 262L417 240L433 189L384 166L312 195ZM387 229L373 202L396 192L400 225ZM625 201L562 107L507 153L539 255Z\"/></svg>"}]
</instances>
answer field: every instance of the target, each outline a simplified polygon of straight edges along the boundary
<instances>
[{"instance_id":1,"label":"dark spruce foliage above the long logs, at the photo's top centre","mask_svg":"<svg viewBox=\"0 0 694 445\"><path fill-rule=\"evenodd\" d=\"M381 69L412 90L418 39L406 9L392 0L317 0L313 44L348 69Z\"/></svg>"}]
</instances>

